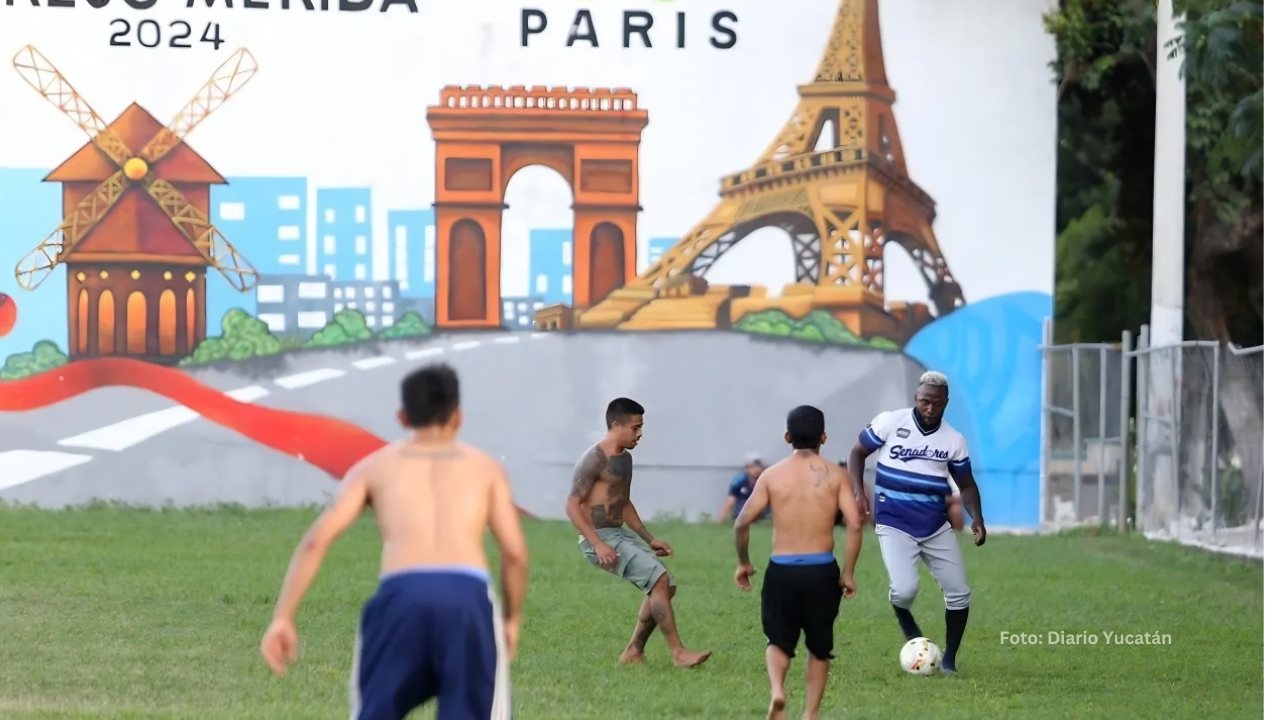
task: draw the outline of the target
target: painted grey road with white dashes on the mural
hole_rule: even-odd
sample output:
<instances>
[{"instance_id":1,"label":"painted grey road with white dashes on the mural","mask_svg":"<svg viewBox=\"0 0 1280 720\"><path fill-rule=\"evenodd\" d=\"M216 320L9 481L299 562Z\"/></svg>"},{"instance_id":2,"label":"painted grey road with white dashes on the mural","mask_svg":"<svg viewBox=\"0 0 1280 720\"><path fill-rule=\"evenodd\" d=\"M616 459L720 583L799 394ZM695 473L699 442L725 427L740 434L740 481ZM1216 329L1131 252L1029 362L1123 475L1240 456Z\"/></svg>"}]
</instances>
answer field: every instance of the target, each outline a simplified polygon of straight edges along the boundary
<instances>
[{"instance_id":1,"label":"painted grey road with white dashes on the mural","mask_svg":"<svg viewBox=\"0 0 1280 720\"><path fill-rule=\"evenodd\" d=\"M847 451L883 407L901 405L922 368L899 354L741 333L468 333L296 352L193 377L243 402L342 418L388 441L398 383L415 366L453 364L463 438L499 456L516 500L561 516L573 462L599 438L620 395L645 405L635 451L641 512L714 512L749 451L781 457L786 411L827 413L828 455ZM334 480L191 410L132 388L52 407L0 413L0 500L45 507L93 500L247 506L326 502Z\"/></svg>"}]
</instances>

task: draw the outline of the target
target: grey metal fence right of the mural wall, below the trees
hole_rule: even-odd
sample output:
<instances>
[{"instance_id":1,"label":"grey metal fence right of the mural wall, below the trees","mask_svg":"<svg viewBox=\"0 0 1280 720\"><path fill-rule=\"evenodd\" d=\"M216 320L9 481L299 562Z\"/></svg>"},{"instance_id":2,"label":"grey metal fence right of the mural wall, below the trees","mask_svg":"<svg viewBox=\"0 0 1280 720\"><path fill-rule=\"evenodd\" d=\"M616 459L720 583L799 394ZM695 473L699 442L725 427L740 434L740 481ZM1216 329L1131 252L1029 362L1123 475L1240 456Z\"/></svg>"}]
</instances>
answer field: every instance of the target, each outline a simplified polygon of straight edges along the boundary
<instances>
[{"instance_id":1,"label":"grey metal fence right of the mural wall, below the trees","mask_svg":"<svg viewBox=\"0 0 1280 720\"><path fill-rule=\"evenodd\" d=\"M1262 555L1262 347L1044 337L1042 524Z\"/></svg>"}]
</instances>

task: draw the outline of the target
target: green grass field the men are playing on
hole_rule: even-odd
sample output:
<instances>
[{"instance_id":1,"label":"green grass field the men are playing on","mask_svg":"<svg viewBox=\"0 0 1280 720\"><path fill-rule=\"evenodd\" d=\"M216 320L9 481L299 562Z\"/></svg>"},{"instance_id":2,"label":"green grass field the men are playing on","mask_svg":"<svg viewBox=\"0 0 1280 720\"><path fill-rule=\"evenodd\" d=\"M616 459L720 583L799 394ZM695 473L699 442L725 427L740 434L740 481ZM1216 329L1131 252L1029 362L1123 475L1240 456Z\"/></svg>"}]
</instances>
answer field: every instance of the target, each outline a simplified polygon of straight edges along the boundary
<instances>
[{"instance_id":1,"label":"green grass field the men are playing on","mask_svg":"<svg viewBox=\"0 0 1280 720\"><path fill-rule=\"evenodd\" d=\"M312 518L0 510L0 716L344 717L356 616L376 582L370 518L339 541L303 605L298 665L275 679L257 653L280 574ZM648 665L616 665L640 593L586 565L566 523L530 521L531 588L512 670L517 719L763 717L759 587L733 585L731 530L650 528L676 548L681 632L712 659L677 670L658 633ZM758 570L768 551L768 527L758 527ZM901 637L879 550L865 536L859 594L836 630L824 717L1262 715L1260 566L1091 534L995 537L982 548L966 537L965 555L974 600L963 676L913 678L897 669ZM925 633L942 635L940 593L927 575L916 616ZM1097 633L1100 643L1001 643L1001 632L1047 641L1053 630ZM1103 632L1167 633L1172 643L1107 646ZM799 717L796 669L790 688Z\"/></svg>"}]
</instances>

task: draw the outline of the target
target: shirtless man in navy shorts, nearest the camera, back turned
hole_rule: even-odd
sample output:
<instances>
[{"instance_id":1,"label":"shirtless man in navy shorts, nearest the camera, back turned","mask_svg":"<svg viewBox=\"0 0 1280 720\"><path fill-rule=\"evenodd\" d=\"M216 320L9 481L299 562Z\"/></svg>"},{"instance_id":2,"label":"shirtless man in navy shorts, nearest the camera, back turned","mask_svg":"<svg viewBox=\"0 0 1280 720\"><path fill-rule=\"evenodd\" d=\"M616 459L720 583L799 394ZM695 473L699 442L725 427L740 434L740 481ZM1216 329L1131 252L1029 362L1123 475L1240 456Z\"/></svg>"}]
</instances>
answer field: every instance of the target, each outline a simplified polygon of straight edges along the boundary
<instances>
[{"instance_id":1,"label":"shirtless man in navy shorts, nearest the camera, back turned","mask_svg":"<svg viewBox=\"0 0 1280 720\"><path fill-rule=\"evenodd\" d=\"M351 669L351 717L404 717L431 698L439 717L509 719L508 664L516 655L529 555L502 465L458 442L458 378L431 365L404 378L408 439L361 460L293 553L262 657L276 675L297 660L293 624L325 553L372 505L383 536L381 577L360 615ZM502 551L494 602L485 530Z\"/></svg>"}]
</instances>

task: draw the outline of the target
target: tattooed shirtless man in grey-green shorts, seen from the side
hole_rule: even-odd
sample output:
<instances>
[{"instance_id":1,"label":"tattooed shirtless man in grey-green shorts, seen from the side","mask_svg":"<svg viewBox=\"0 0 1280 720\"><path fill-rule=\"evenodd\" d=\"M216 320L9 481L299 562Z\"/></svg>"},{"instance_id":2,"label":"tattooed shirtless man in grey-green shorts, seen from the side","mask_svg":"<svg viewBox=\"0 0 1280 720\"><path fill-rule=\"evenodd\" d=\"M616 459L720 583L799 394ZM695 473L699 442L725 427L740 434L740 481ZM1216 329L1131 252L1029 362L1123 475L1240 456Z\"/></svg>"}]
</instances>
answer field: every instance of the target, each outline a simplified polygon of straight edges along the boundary
<instances>
[{"instance_id":1,"label":"tattooed shirtless man in grey-green shorts, seen from the side","mask_svg":"<svg viewBox=\"0 0 1280 720\"><path fill-rule=\"evenodd\" d=\"M573 468L564 512L580 533L579 548L586 560L645 593L631 642L620 662L643 662L644 647L655 628L671 647L671 660L680 667L701 665L710 651L685 647L676 630L671 598L676 582L658 560L672 553L671 546L653 537L631 503L631 454L644 429L644 407L627 397L609 402L604 411L604 439L593 445ZM622 525L631 528L627 530Z\"/></svg>"}]
</instances>

